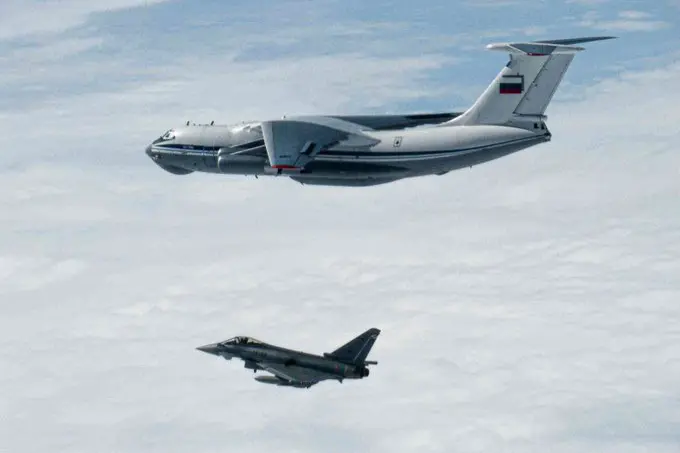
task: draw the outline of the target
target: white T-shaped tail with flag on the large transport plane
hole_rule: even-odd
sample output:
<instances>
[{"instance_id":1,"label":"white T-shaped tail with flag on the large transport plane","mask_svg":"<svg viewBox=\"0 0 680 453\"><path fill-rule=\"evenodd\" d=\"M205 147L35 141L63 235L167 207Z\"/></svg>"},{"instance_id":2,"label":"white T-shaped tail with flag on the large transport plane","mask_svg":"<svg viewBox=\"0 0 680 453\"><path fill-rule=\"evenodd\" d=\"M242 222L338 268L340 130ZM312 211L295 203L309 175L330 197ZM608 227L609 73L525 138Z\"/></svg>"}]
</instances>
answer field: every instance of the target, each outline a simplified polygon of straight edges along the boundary
<instances>
[{"instance_id":1,"label":"white T-shaped tail with flag on the large transport plane","mask_svg":"<svg viewBox=\"0 0 680 453\"><path fill-rule=\"evenodd\" d=\"M613 39L613 36L489 44L487 49L510 54L510 61L462 115L445 123L538 128L545 110L576 52L576 44Z\"/></svg>"}]
</instances>

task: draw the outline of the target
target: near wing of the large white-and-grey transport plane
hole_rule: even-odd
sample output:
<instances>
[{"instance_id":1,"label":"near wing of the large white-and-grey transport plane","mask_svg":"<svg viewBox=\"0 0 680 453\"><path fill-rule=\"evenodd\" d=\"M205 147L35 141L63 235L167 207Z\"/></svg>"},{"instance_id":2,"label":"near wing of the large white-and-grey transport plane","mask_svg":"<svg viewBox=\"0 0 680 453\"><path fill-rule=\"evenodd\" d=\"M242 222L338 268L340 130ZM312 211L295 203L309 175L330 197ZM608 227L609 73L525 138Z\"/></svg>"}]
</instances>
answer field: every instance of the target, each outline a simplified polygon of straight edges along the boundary
<instances>
[{"instance_id":1,"label":"near wing of the large white-and-grey transport plane","mask_svg":"<svg viewBox=\"0 0 680 453\"><path fill-rule=\"evenodd\" d=\"M278 169L301 169L331 146L369 149L380 143L367 132L359 124L326 116L262 122L269 165Z\"/></svg>"}]
</instances>

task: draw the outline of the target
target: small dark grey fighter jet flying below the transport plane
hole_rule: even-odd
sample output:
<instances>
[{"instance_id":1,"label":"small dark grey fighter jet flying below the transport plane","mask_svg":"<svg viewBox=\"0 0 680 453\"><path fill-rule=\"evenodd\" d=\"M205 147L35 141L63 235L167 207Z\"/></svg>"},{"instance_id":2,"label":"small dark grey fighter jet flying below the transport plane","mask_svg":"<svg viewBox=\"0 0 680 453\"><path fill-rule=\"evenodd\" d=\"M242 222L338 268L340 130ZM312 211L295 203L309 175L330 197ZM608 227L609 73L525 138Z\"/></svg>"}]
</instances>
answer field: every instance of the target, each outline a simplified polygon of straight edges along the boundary
<instances>
[{"instance_id":1,"label":"small dark grey fighter jet flying below the transport plane","mask_svg":"<svg viewBox=\"0 0 680 453\"><path fill-rule=\"evenodd\" d=\"M324 380L362 379L368 376L368 365L378 362L366 360L380 330L368 329L352 341L322 356L294 351L263 343L251 337L234 337L220 343L199 346L199 351L231 360L244 361L244 367L266 371L273 376L256 376L263 384L283 387L310 388Z\"/></svg>"}]
</instances>

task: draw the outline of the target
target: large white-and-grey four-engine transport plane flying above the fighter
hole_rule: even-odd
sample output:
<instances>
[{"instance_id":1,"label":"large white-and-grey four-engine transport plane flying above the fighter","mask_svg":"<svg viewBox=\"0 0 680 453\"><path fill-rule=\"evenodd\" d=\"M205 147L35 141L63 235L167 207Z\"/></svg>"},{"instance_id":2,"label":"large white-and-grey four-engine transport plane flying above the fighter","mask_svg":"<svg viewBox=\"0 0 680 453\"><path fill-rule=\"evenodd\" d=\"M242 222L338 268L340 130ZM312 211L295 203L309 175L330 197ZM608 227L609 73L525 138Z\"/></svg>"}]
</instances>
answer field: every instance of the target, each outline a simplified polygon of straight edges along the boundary
<instances>
[{"instance_id":1,"label":"large white-and-grey four-engine transport plane flying above the fighter","mask_svg":"<svg viewBox=\"0 0 680 453\"><path fill-rule=\"evenodd\" d=\"M369 186L443 175L550 141L545 110L576 44L609 36L490 44L510 60L464 112L299 116L170 129L146 148L163 169L286 176L303 184Z\"/></svg>"}]
</instances>

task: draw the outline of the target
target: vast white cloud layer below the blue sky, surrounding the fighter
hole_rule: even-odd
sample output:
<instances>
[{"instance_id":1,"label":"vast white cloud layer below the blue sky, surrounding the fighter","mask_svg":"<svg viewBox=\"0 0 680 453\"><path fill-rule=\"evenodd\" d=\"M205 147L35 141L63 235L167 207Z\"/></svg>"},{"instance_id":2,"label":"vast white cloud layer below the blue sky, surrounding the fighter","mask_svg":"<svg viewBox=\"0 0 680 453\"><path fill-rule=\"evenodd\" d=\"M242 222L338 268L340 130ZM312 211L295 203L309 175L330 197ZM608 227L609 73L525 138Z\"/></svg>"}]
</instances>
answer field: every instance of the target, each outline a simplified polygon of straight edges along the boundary
<instances>
[{"instance_id":1,"label":"vast white cloud layer below the blue sky, surrounding the fighter","mask_svg":"<svg viewBox=\"0 0 680 453\"><path fill-rule=\"evenodd\" d=\"M281 59L279 79L228 61L2 118L0 450L677 450L676 63L551 106L549 145L443 177L175 177L142 152L176 115L431 93L414 81L436 55L386 61ZM309 391L194 350L323 352L372 325L371 376Z\"/></svg>"}]
</instances>

